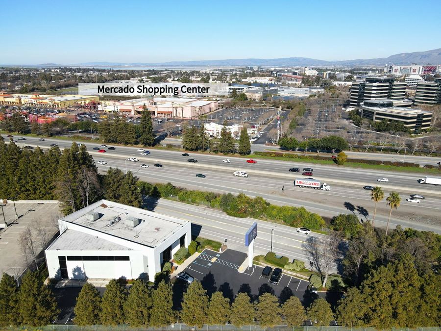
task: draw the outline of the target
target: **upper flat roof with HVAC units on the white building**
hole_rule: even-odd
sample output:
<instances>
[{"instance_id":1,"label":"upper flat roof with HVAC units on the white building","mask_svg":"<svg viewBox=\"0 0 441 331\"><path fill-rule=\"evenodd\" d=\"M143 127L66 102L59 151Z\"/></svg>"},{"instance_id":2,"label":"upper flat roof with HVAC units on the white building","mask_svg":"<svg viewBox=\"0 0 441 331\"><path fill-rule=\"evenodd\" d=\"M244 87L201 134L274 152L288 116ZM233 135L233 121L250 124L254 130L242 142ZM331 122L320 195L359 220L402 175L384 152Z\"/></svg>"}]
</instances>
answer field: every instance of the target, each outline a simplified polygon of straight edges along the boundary
<instances>
[{"instance_id":1,"label":"upper flat roof with HVAC units on the white building","mask_svg":"<svg viewBox=\"0 0 441 331\"><path fill-rule=\"evenodd\" d=\"M91 221L88 214L97 213L98 219ZM100 200L80 209L61 220L85 228L107 233L148 247L156 247L189 221L161 215L145 209ZM132 226L131 222L139 222Z\"/></svg>"}]
</instances>

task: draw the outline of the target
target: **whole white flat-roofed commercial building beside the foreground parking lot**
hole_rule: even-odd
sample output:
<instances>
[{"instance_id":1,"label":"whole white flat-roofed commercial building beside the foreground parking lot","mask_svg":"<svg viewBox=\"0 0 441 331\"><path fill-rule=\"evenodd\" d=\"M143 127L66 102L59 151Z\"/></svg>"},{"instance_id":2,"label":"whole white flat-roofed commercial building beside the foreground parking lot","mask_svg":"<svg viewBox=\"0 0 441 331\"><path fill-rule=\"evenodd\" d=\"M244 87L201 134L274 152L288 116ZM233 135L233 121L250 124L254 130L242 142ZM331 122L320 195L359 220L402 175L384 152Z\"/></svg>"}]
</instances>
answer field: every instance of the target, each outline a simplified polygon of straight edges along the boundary
<instances>
[{"instance_id":1,"label":"whole white flat-roofed commercial building beside the foreground parking lot","mask_svg":"<svg viewBox=\"0 0 441 331\"><path fill-rule=\"evenodd\" d=\"M154 280L161 265L188 247L191 223L100 200L58 220L60 235L46 249L49 277Z\"/></svg>"}]
</instances>

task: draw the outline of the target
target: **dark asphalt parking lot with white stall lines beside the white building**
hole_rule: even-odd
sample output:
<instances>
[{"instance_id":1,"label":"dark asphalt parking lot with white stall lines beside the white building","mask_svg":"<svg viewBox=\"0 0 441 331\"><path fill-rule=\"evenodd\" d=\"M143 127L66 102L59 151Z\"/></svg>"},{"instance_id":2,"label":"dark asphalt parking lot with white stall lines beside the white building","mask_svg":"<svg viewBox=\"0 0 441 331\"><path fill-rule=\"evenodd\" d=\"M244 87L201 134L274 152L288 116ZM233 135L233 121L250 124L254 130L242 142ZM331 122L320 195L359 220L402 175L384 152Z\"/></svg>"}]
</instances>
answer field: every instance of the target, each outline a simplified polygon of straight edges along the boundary
<instances>
[{"instance_id":1,"label":"dark asphalt parking lot with white stall lines beside the white building","mask_svg":"<svg viewBox=\"0 0 441 331\"><path fill-rule=\"evenodd\" d=\"M261 277L263 267L260 266L253 266L244 273L239 273L239 266L245 258L245 253L230 249L223 253L204 250L184 271L199 280L208 295L221 291L230 300L239 292L248 293L252 299L263 293L272 293L281 303L292 295L302 302L309 302L311 295L314 295L307 289L308 281L285 274L277 285L271 284L269 279Z\"/></svg>"}]
</instances>

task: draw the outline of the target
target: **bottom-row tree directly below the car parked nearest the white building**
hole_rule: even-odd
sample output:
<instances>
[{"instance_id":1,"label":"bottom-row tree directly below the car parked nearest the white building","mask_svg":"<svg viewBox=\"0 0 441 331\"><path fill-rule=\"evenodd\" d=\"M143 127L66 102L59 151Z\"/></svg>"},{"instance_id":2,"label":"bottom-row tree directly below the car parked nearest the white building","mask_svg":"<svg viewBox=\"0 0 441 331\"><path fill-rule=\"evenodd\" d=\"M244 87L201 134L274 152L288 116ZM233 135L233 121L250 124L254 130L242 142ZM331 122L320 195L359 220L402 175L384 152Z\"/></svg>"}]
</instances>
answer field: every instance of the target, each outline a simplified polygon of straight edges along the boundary
<instances>
[{"instance_id":1,"label":"bottom-row tree directly below the car parked nearest the white building","mask_svg":"<svg viewBox=\"0 0 441 331\"><path fill-rule=\"evenodd\" d=\"M198 281L193 281L184 293L181 319L187 325L201 328L207 319L208 296Z\"/></svg>"}]
</instances>

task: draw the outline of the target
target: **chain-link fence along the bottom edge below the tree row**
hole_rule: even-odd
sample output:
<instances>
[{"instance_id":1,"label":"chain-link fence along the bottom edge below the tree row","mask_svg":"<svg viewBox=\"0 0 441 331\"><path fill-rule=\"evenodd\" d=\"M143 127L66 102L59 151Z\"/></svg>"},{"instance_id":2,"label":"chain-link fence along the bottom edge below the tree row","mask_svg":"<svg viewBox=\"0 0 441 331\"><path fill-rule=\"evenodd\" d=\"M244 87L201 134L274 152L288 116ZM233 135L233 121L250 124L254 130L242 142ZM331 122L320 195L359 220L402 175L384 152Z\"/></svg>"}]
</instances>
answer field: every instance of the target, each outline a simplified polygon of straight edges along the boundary
<instances>
[{"instance_id":1,"label":"chain-link fence along the bottom edge below the tree row","mask_svg":"<svg viewBox=\"0 0 441 331\"><path fill-rule=\"evenodd\" d=\"M438 331L440 328L391 328L391 331ZM272 328L263 328L260 325L246 325L237 328L233 325L204 325L202 328L189 327L185 324L172 324L163 328L131 328L128 325L103 326L92 325L88 327L80 327L77 325L48 325L40 328L15 328L6 330L41 330L41 331L376 331L374 328L346 328L346 327L315 327L315 326L298 326L289 327L287 325L278 325ZM440 329L441 330L441 329Z\"/></svg>"}]
</instances>

